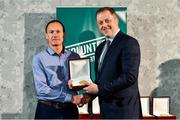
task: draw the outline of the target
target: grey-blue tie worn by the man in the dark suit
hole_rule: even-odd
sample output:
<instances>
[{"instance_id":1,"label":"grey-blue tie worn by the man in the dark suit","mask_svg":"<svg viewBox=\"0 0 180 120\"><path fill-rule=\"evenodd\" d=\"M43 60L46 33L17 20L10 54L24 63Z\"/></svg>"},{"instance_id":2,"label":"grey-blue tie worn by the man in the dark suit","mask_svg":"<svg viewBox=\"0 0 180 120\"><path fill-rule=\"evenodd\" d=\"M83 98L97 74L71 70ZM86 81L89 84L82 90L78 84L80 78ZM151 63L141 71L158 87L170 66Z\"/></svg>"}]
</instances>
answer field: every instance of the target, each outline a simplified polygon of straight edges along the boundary
<instances>
[{"instance_id":1,"label":"grey-blue tie worn by the man in the dark suit","mask_svg":"<svg viewBox=\"0 0 180 120\"><path fill-rule=\"evenodd\" d=\"M110 46L110 43L111 41L110 40L106 40L106 43L104 45L104 48L102 50L102 53L101 53L101 56L99 58L99 64L98 64L98 71L101 71L101 67L102 67L102 64L103 64L103 60L104 60L104 57L106 55L106 52Z\"/></svg>"}]
</instances>

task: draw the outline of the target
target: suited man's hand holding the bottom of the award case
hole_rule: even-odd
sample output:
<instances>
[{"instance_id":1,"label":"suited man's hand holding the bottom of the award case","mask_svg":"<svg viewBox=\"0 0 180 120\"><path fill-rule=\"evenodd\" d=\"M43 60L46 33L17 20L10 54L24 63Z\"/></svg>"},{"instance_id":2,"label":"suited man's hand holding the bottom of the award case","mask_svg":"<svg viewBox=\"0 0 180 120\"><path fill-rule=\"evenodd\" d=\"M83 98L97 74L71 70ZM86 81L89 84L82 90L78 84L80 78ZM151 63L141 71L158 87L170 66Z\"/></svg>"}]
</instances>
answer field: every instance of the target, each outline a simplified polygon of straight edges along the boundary
<instances>
[{"instance_id":1,"label":"suited man's hand holding the bottom of the award case","mask_svg":"<svg viewBox=\"0 0 180 120\"><path fill-rule=\"evenodd\" d=\"M85 90L87 93L89 94L98 94L99 89L97 87L97 85L95 83L88 83L85 82L85 85L87 85L87 87L83 88L83 90Z\"/></svg>"}]
</instances>

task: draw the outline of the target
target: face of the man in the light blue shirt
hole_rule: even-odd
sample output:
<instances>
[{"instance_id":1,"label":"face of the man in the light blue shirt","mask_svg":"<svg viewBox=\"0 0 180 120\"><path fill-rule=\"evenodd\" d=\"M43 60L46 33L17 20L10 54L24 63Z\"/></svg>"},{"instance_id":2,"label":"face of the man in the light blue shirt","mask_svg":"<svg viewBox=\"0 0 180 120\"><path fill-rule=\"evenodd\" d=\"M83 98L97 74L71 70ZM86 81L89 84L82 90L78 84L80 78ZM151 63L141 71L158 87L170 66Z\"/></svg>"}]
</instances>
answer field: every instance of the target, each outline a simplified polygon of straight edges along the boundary
<instances>
[{"instance_id":1,"label":"face of the man in the light blue shirt","mask_svg":"<svg viewBox=\"0 0 180 120\"><path fill-rule=\"evenodd\" d=\"M62 46L64 41L63 27L60 23L50 23L47 28L46 39L50 47Z\"/></svg>"}]
</instances>

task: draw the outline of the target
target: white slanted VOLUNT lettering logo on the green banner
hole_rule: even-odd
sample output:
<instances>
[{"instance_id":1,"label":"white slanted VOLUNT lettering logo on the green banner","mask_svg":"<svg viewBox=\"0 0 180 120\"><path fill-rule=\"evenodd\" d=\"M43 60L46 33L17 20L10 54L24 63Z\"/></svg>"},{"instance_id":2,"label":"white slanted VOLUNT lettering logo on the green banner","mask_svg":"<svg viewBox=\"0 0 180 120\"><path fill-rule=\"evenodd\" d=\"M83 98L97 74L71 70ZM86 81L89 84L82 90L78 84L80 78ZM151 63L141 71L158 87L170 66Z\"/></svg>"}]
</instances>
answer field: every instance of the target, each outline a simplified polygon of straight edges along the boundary
<instances>
[{"instance_id":1,"label":"white slanted VOLUNT lettering logo on the green banner","mask_svg":"<svg viewBox=\"0 0 180 120\"><path fill-rule=\"evenodd\" d=\"M84 42L72 44L72 45L66 46L66 48L73 52L78 53L81 56L81 58L89 57L91 62L93 62L96 47L101 42L103 42L104 39L105 37L103 36L103 37L87 40Z\"/></svg>"}]
</instances>

